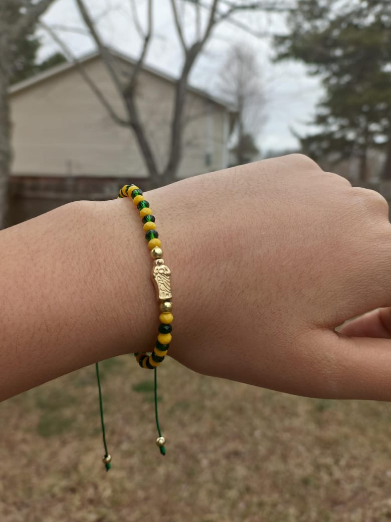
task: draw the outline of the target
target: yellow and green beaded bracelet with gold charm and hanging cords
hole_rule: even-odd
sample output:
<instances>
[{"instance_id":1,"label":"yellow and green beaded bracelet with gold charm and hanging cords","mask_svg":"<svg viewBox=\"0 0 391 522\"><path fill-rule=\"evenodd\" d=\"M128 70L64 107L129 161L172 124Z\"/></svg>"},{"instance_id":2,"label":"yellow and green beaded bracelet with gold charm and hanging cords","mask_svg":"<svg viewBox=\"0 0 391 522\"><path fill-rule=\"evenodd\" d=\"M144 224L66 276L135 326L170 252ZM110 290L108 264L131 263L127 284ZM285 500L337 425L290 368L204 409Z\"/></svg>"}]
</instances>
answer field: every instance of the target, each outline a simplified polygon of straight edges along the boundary
<instances>
[{"instance_id":1,"label":"yellow and green beaded bracelet with gold charm and hanging cords","mask_svg":"<svg viewBox=\"0 0 391 522\"><path fill-rule=\"evenodd\" d=\"M157 366L159 366L163 361L164 357L167 354L169 343L172 339L171 331L173 322L173 314L171 313L173 310L172 293L171 293L171 283L170 283L170 274L171 270L164 264L163 259L163 251L162 244L160 239L158 239L158 232L156 231L155 217L152 215L152 210L149 208L148 201L145 200L141 189L134 184L124 185L117 196L117 199L123 197L131 197L133 203L137 206L140 212L140 218L143 222L143 230L145 232L145 239L148 241L148 247L151 251L151 256L154 259L153 269L152 269L152 280L155 283L156 287L156 298L160 301L160 311L159 315L160 325L158 327L158 335L155 343L155 347L151 355L148 355L146 352L136 352L135 357L136 361L142 368L155 370L155 379L154 379L154 390L155 390L155 419L156 419L156 427L159 436L156 439L156 444L160 449L162 455L166 454L165 448L165 438L162 436L162 432L160 430L158 416L157 416L157 377L156 371ZM103 420L103 401L102 401L102 390L99 376L99 365L96 366L96 378L99 389L99 405L101 412L101 424L102 424L102 435L103 435L103 444L105 448L105 455L103 457L103 463L106 467L106 471L111 468L111 460L112 457L109 455L107 451L106 444L106 435L105 435L105 426Z\"/></svg>"}]
</instances>

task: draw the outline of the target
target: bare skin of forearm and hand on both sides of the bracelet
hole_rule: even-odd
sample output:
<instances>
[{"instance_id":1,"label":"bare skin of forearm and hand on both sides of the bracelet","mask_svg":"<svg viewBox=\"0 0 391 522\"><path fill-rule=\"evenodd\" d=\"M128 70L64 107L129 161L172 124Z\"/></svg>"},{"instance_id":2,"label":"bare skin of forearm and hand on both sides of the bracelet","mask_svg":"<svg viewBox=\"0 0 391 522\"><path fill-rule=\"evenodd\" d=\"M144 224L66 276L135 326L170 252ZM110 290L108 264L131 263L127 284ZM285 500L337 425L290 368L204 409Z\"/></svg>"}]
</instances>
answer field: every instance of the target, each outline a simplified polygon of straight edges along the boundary
<instances>
[{"instance_id":1,"label":"bare skin of forearm and hand on both sides of the bracelet","mask_svg":"<svg viewBox=\"0 0 391 522\"><path fill-rule=\"evenodd\" d=\"M296 395L391 400L380 194L290 155L144 195L172 270L172 357ZM151 351L158 306L143 236L129 198L78 201L0 232L1 399Z\"/></svg>"}]
</instances>

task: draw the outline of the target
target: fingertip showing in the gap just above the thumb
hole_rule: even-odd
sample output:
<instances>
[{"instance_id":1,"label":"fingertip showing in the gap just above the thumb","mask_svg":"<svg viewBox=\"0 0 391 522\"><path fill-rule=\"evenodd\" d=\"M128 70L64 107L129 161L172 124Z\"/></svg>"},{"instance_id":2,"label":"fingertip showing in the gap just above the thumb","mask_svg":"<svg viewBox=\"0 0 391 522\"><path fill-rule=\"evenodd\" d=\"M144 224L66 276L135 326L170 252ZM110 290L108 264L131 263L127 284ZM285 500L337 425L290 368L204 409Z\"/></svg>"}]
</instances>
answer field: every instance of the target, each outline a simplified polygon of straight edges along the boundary
<instances>
[{"instance_id":1,"label":"fingertip showing in the gap just above the thumb","mask_svg":"<svg viewBox=\"0 0 391 522\"><path fill-rule=\"evenodd\" d=\"M339 328L339 333L349 337L391 338L391 308L377 308L353 319Z\"/></svg>"}]
</instances>

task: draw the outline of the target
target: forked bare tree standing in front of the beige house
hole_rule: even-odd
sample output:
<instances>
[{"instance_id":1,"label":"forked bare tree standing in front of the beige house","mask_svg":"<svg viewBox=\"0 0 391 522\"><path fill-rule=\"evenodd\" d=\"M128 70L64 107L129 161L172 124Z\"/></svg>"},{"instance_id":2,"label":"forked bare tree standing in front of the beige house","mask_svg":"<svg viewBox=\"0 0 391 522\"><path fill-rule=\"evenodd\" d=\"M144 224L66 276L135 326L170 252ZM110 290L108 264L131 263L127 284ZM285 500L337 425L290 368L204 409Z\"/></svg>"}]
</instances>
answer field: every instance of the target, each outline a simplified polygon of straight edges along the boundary
<instances>
[{"instance_id":1,"label":"forked bare tree standing in front of the beige house","mask_svg":"<svg viewBox=\"0 0 391 522\"><path fill-rule=\"evenodd\" d=\"M260 0L257 2L242 0L228 1L228 0L211 0L209 3L201 2L200 0L189 0L189 9L193 9L194 14L194 35L190 39L188 32L185 31L185 25L181 16L179 5L184 6L185 0L170 0L170 8L172 10L175 21L176 33L182 50L182 64L178 79L175 84L175 99L173 112L170 118L169 127L169 144L166 151L166 162L160 165L156 159L156 151L152 145L152 140L145 125L140 117L139 105L137 100L137 86L142 70L145 55L148 51L149 45L153 37L153 0L148 0L146 4L146 29L139 19L139 12L136 7L135 0L129 0L132 8L133 22L142 39L142 48L138 60L131 72L124 80L124 75L120 74L118 67L115 65L115 57L105 45L101 37L97 24L93 20L85 0L75 0L80 11L81 17L84 20L85 26L88 28L91 38L95 42L103 63L106 66L107 72L111 77L118 95L123 101L126 112L126 117L121 117L116 113L110 100L106 99L102 92L99 91L87 73L82 72L82 64L79 63L75 57L72 61L78 65L79 71L83 75L85 81L88 82L92 88L95 96L103 103L107 112L111 115L113 120L121 126L128 127L133 135L135 135L139 150L144 160L146 169L150 175L152 187L162 186L175 181L175 175L178 170L182 152L183 152L183 135L185 126L185 106L187 100L189 75L198 56L204 49L206 42L211 38L214 28L221 22L229 20L232 15L239 11L259 10L259 11L282 11L288 4L283 4L284 0L279 2L272 2L271 0ZM288 2L289 0L285 0ZM46 29L48 29L46 27ZM49 29L50 30L50 29ZM54 31L50 31L57 43L65 51L65 44L61 42L58 35ZM68 50L69 51L69 50ZM71 58L70 53L67 53L68 60Z\"/></svg>"}]
</instances>

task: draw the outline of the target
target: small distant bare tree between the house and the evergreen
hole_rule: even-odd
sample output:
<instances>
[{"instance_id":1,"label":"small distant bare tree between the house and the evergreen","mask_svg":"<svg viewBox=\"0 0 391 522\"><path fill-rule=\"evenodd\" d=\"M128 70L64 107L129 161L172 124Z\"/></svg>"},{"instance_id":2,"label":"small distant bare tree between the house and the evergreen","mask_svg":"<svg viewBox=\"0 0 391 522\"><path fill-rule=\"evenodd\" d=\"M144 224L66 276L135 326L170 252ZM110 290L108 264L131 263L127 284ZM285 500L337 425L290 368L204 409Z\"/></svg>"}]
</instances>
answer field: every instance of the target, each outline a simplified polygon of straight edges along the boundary
<instances>
[{"instance_id":1,"label":"small distant bare tree between the house and the evergreen","mask_svg":"<svg viewBox=\"0 0 391 522\"><path fill-rule=\"evenodd\" d=\"M218 90L235 108L235 121L231 125L235 138L236 163L248 161L248 150L265 122L265 96L261 68L255 50L236 43L228 51L219 73ZM255 149L253 149L255 151Z\"/></svg>"}]
</instances>

